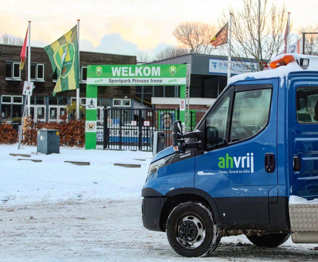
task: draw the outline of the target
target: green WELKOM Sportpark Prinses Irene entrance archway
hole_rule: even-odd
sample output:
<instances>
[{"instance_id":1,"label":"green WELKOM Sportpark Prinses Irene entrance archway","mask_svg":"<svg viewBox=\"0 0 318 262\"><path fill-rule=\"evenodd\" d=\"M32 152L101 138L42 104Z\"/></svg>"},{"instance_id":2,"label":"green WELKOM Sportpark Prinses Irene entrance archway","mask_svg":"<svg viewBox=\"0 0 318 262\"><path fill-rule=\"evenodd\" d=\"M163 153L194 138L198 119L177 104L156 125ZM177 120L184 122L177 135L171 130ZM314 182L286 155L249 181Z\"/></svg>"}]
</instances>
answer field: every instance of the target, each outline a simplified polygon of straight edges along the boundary
<instances>
[{"instance_id":1,"label":"green WELKOM Sportpark Prinses Irene entrance archway","mask_svg":"<svg viewBox=\"0 0 318 262\"><path fill-rule=\"evenodd\" d=\"M85 149L96 149L97 86L180 85L180 120L184 123L185 98L189 97L186 86L189 84L190 72L186 64L87 66Z\"/></svg>"}]
</instances>

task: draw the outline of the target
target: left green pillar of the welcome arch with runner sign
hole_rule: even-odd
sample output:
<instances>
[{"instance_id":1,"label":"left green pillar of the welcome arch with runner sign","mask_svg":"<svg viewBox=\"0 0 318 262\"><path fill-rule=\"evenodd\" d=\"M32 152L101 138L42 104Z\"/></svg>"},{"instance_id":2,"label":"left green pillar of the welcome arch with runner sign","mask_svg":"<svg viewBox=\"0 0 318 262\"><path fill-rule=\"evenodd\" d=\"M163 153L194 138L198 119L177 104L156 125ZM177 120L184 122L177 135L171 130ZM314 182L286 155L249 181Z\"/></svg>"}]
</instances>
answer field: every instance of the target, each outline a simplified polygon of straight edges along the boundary
<instances>
[{"instance_id":1,"label":"left green pillar of the welcome arch with runner sign","mask_svg":"<svg viewBox=\"0 0 318 262\"><path fill-rule=\"evenodd\" d=\"M96 149L97 86L86 85L85 149Z\"/></svg>"}]
</instances>

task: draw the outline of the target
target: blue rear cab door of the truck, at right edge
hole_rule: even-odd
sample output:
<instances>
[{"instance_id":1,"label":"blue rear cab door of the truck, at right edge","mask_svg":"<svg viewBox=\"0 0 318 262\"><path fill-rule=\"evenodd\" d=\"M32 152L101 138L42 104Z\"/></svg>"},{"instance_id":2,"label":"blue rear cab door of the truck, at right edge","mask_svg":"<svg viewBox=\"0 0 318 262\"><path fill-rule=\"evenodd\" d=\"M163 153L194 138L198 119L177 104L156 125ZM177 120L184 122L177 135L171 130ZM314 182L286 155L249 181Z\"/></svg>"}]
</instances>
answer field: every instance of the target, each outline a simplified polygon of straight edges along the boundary
<instances>
[{"instance_id":1,"label":"blue rear cab door of the truck, at right edge","mask_svg":"<svg viewBox=\"0 0 318 262\"><path fill-rule=\"evenodd\" d=\"M292 77L289 92L288 139L290 195L318 198L317 74Z\"/></svg>"}]
</instances>

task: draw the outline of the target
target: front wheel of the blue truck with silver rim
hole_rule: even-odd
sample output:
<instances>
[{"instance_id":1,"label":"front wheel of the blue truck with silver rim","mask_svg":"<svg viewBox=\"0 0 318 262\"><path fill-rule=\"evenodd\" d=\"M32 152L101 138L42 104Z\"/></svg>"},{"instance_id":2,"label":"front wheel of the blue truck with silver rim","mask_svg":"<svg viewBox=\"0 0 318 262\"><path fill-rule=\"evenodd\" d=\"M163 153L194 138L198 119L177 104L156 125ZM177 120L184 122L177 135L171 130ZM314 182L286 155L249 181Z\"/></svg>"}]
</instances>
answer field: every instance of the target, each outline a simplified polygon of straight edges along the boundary
<instances>
[{"instance_id":1,"label":"front wheel of the blue truck with silver rim","mask_svg":"<svg viewBox=\"0 0 318 262\"><path fill-rule=\"evenodd\" d=\"M171 247L183 257L205 257L221 236L211 210L198 202L185 202L170 213L166 227Z\"/></svg>"}]
</instances>

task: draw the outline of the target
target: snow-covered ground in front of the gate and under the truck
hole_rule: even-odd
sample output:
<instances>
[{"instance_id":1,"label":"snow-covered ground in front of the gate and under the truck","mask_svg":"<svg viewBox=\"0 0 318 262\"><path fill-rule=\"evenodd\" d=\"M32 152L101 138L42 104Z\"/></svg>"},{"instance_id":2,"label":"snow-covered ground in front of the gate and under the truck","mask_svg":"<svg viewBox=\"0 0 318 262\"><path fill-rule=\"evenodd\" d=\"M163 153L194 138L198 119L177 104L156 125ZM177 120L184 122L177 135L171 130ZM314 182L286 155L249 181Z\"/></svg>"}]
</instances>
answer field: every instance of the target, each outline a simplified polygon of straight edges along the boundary
<instances>
[{"instance_id":1,"label":"snow-covered ground in front of the gate and under the truck","mask_svg":"<svg viewBox=\"0 0 318 262\"><path fill-rule=\"evenodd\" d=\"M17 161L0 145L0 261L317 261L317 244L259 248L245 236L223 237L210 258L182 258L163 232L143 228L141 188L150 152L61 147ZM25 158L27 159L27 158ZM145 159L134 160L134 159ZM75 166L64 160L90 161ZM141 164L141 168L114 166Z\"/></svg>"}]
</instances>

